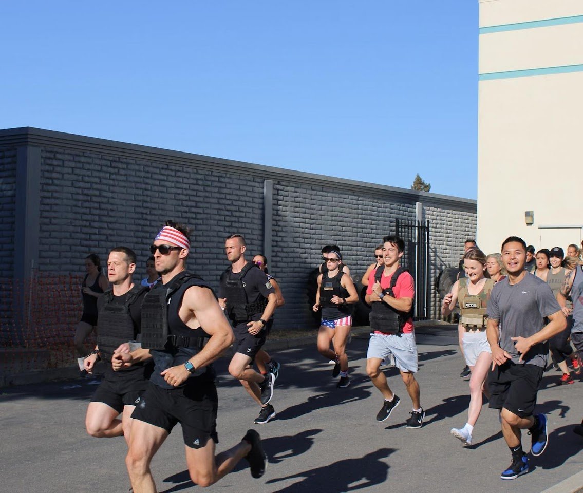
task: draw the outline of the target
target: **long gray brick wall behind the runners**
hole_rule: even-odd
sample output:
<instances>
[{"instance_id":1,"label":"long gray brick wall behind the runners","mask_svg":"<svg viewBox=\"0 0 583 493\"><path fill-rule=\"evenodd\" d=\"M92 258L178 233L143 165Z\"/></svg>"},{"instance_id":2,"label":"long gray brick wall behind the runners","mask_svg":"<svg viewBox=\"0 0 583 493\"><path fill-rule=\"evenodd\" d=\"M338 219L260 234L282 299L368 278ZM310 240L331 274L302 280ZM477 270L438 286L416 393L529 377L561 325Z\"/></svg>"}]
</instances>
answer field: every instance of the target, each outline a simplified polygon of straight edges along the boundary
<instances>
[{"instance_id":1,"label":"long gray brick wall behind the runners","mask_svg":"<svg viewBox=\"0 0 583 493\"><path fill-rule=\"evenodd\" d=\"M264 181L272 180L269 266L286 298L276 326L314 326L306 281L320 262L322 245L340 245L353 277L360 279L375 245L394 233L395 219L415 220L416 202L422 202L434 279L443 266L457 265L463 238L476 230L475 202L467 200L58 132L26 129L24 135L41 147L38 269L43 273L82 274L89 253L105 261L109 249L127 245L138 255L141 279L154 235L164 220L175 219L193 230L189 269L216 288L227 266L227 234L245 236L248 258L264 253ZM1 138L2 131L0 150ZM1 152L2 186L9 197L15 152ZM10 214L0 217L9 227ZM4 245L0 248L10 246ZM3 265L5 272L10 267Z\"/></svg>"}]
</instances>

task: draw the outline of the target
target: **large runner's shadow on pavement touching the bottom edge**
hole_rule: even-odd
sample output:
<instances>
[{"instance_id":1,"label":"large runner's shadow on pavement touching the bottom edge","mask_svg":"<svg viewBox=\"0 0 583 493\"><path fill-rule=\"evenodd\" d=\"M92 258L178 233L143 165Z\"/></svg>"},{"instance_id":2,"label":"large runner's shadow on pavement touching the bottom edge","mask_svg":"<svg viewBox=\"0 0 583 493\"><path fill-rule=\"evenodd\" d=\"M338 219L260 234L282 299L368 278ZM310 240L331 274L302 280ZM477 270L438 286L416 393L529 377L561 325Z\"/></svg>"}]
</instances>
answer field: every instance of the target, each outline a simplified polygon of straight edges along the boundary
<instances>
[{"instance_id":1,"label":"large runner's shadow on pavement touching the bottom edge","mask_svg":"<svg viewBox=\"0 0 583 493\"><path fill-rule=\"evenodd\" d=\"M267 481L275 484L293 478L301 481L276 490L273 493L305 493L306 491L325 491L326 493L340 493L368 488L387 480L389 466L381 459L388 457L396 449L379 449L367 453L358 459L339 460L329 466L316 467L303 473L291 474Z\"/></svg>"}]
</instances>

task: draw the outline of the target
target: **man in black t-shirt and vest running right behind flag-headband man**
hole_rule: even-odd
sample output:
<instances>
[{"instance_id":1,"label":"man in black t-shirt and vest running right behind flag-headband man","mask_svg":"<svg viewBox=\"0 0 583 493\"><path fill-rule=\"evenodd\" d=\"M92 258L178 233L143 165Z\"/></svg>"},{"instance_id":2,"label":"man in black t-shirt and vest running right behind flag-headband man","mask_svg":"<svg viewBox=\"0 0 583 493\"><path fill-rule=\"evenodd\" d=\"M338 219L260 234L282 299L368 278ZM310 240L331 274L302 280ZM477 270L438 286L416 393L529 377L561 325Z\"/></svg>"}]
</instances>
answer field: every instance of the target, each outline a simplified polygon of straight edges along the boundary
<instances>
[{"instance_id":1,"label":"man in black t-shirt and vest running right behind flag-headband man","mask_svg":"<svg viewBox=\"0 0 583 493\"><path fill-rule=\"evenodd\" d=\"M265 343L267 321L275 311L277 297L265 273L245 260L243 236L230 235L224 248L231 266L220 277L219 304L233 324L236 338L229 373L261 406L255 423L265 424L275 417L275 410L269 404L273 397L275 375L259 374L252 368L252 363Z\"/></svg>"}]
</instances>

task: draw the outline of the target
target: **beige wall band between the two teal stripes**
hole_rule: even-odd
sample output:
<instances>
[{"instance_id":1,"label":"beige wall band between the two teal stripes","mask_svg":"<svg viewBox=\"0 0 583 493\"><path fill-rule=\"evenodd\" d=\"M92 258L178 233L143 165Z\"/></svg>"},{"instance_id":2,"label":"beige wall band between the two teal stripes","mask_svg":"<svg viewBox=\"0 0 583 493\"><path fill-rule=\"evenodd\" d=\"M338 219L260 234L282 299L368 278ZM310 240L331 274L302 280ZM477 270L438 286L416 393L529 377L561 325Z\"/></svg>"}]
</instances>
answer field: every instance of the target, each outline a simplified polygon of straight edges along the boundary
<instances>
[{"instance_id":1,"label":"beige wall band between the two teal stripes","mask_svg":"<svg viewBox=\"0 0 583 493\"><path fill-rule=\"evenodd\" d=\"M583 22L480 34L479 73L579 64Z\"/></svg>"}]
</instances>

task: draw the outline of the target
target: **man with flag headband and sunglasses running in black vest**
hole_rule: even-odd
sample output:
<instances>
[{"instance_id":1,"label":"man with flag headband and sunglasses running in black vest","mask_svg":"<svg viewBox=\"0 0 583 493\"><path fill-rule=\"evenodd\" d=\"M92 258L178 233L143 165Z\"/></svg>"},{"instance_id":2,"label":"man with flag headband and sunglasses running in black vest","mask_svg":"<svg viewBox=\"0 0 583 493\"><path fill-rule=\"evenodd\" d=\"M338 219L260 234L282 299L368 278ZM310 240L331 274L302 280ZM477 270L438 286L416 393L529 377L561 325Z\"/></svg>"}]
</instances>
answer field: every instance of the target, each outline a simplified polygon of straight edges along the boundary
<instances>
[{"instance_id":1,"label":"man with flag headband and sunglasses running in black vest","mask_svg":"<svg viewBox=\"0 0 583 493\"><path fill-rule=\"evenodd\" d=\"M142 348L117 352L114 369L126 368L152 353L154 371L132 414L126 458L134 493L155 493L150 462L170 431L182 425L191 480L201 487L216 483L240 459L259 478L266 456L259 434L248 430L233 448L215 456L217 392L210 365L233 343L233 331L215 294L200 277L186 271L188 228L167 221L150 251L161 282L142 304Z\"/></svg>"}]
</instances>

